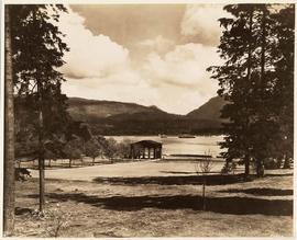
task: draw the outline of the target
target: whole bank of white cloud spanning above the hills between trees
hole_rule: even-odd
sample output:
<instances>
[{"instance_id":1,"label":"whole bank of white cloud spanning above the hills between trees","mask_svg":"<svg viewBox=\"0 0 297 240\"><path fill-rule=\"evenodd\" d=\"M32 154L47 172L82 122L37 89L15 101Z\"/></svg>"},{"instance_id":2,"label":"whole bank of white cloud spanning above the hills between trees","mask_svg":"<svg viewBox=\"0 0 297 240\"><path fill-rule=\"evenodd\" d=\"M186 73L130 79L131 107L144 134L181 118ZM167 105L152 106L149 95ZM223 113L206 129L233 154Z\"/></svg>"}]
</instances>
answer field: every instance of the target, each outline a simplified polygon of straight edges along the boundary
<instances>
[{"instance_id":1,"label":"whole bank of white cloud spanning above the hills between trees","mask_svg":"<svg viewBox=\"0 0 297 240\"><path fill-rule=\"evenodd\" d=\"M186 114L216 94L217 81L206 72L219 62L215 47L175 45L158 35L139 41L145 55L135 60L133 49L94 34L72 10L62 16L59 27L70 47L62 69L67 79L63 92L68 96L134 102Z\"/></svg>"}]
</instances>

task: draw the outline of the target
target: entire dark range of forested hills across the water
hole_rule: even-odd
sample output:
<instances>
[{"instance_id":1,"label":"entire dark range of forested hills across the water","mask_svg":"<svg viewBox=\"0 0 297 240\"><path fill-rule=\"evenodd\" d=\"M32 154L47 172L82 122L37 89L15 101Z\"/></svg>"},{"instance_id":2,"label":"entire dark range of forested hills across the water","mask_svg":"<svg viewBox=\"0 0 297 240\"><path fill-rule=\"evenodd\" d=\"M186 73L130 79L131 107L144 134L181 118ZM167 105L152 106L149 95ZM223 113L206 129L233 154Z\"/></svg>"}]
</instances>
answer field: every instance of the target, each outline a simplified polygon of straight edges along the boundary
<instances>
[{"instance_id":1,"label":"entire dark range of forested hills across the water","mask_svg":"<svg viewBox=\"0 0 297 240\"><path fill-rule=\"evenodd\" d=\"M88 123L94 134L218 134L222 104L216 99L187 115L176 115L156 106L69 98L68 112L75 121Z\"/></svg>"}]
</instances>

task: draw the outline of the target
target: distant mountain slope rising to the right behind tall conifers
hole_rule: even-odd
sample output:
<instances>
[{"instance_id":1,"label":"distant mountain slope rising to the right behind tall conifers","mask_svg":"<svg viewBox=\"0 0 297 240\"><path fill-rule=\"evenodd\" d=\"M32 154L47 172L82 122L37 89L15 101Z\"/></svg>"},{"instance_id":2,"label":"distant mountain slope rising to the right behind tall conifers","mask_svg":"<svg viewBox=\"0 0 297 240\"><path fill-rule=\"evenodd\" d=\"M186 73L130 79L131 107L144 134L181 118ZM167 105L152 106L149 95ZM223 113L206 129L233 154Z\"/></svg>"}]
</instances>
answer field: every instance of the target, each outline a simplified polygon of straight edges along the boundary
<instances>
[{"instance_id":1,"label":"distant mountain slope rising to the right behind tall conifers","mask_svg":"<svg viewBox=\"0 0 297 240\"><path fill-rule=\"evenodd\" d=\"M222 110L226 101L220 96L211 98L207 103L198 108L189 112L186 116L195 119L212 119L222 121L220 118L220 111Z\"/></svg>"}]
</instances>

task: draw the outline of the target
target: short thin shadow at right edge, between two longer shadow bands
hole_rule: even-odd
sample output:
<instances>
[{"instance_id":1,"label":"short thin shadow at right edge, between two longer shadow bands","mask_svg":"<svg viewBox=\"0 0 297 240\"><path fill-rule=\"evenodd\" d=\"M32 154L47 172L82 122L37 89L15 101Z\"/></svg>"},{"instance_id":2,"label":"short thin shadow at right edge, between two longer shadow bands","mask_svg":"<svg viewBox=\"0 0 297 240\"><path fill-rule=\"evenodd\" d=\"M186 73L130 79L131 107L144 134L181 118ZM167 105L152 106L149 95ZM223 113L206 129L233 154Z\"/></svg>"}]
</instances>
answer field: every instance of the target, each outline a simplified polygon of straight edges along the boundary
<instances>
[{"instance_id":1,"label":"short thin shadow at right edge, between two longer shadow bands","mask_svg":"<svg viewBox=\"0 0 297 240\"><path fill-rule=\"evenodd\" d=\"M263 195L263 196L293 196L293 190L278 190L278 188L234 188L234 190L221 190L220 193L246 193L253 195Z\"/></svg>"}]
</instances>

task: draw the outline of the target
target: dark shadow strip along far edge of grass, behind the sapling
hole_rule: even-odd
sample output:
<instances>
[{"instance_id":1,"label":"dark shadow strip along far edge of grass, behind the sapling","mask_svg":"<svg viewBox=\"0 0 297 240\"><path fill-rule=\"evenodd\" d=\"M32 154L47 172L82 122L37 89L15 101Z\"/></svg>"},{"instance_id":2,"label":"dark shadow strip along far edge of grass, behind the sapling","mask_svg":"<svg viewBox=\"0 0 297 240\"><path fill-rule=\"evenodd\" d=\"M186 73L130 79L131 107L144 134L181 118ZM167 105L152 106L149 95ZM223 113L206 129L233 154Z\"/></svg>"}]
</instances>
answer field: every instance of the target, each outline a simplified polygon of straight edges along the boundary
<instances>
[{"instance_id":1,"label":"dark shadow strip along far edge of grass, behind the sapling","mask_svg":"<svg viewBox=\"0 0 297 240\"><path fill-rule=\"evenodd\" d=\"M158 185L201 185L202 175L173 175L173 176L140 176L140 178L96 178L97 183L108 183L114 185L140 185L140 184L158 184ZM224 185L232 183L246 182L243 174L207 175L207 185ZM252 181L252 178L249 179Z\"/></svg>"}]
</instances>

